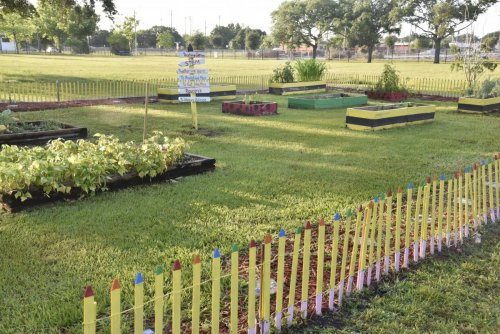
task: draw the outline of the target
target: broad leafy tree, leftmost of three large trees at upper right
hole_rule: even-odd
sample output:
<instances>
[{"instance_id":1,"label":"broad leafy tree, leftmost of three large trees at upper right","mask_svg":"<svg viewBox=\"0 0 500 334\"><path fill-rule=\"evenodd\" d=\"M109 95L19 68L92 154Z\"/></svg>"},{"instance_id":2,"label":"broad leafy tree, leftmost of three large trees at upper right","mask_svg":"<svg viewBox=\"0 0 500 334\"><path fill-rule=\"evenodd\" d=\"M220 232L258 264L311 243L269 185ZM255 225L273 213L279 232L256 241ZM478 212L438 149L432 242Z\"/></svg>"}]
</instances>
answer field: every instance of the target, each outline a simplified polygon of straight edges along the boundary
<instances>
[{"instance_id":1,"label":"broad leafy tree, leftmost of three large trees at upper right","mask_svg":"<svg viewBox=\"0 0 500 334\"><path fill-rule=\"evenodd\" d=\"M333 30L338 4L332 0L291 0L271 13L273 39L290 47L312 47L313 58L323 36Z\"/></svg>"}]
</instances>

